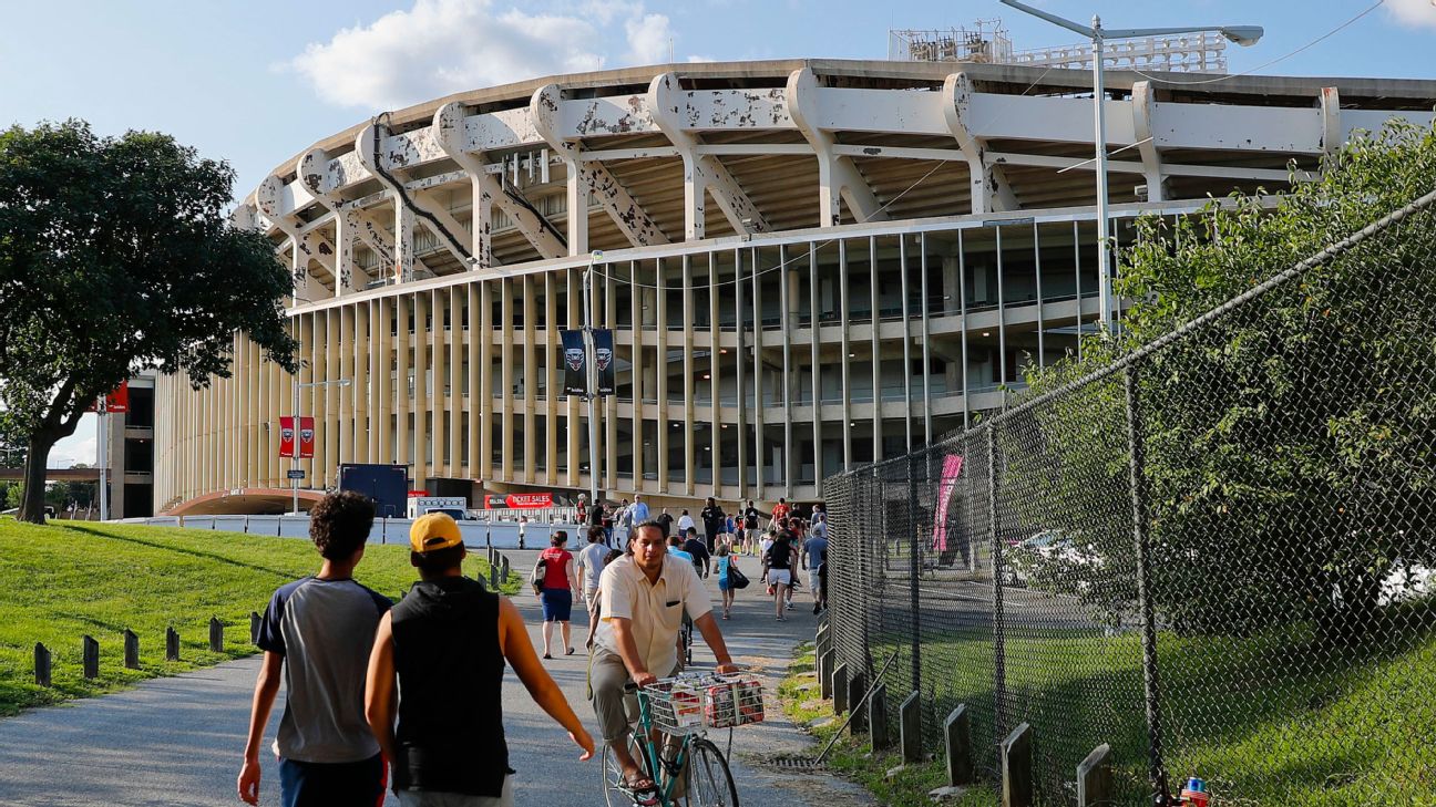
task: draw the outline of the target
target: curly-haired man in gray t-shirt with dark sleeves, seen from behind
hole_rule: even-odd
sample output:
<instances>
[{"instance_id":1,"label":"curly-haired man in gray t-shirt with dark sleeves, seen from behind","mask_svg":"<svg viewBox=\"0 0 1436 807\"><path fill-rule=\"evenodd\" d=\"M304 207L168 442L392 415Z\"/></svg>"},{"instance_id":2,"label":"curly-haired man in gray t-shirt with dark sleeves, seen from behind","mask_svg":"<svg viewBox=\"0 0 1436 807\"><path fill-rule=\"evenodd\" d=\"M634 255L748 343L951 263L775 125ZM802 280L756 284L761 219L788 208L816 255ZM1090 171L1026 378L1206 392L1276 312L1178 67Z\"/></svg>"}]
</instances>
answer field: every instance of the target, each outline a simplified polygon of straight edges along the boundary
<instances>
[{"instance_id":1,"label":"curly-haired man in gray t-shirt with dark sleeves, seen from behind","mask_svg":"<svg viewBox=\"0 0 1436 807\"><path fill-rule=\"evenodd\" d=\"M369 648L391 603L353 580L370 527L368 497L342 491L320 500L309 511L319 574L280 586L264 609L257 642L264 661L238 777L247 804L260 800L260 742L281 679L280 803L375 804L383 796L383 758L365 721L363 691Z\"/></svg>"}]
</instances>

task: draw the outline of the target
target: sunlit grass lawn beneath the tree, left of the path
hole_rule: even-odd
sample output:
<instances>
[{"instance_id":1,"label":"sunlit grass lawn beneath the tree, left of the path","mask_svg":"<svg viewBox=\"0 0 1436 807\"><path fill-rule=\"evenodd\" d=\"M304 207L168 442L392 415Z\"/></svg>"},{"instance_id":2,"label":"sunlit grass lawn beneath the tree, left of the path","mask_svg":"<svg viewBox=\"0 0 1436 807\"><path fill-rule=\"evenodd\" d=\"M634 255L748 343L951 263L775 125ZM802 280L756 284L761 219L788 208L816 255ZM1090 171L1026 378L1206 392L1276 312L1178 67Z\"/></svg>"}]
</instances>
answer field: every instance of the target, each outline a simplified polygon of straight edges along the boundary
<instances>
[{"instance_id":1,"label":"sunlit grass lawn beneath the tree, left of the path","mask_svg":"<svg viewBox=\"0 0 1436 807\"><path fill-rule=\"evenodd\" d=\"M313 574L320 557L297 538L135 524L0 518L0 715L109 692L247 656L250 612L264 612L279 586ZM471 556L470 577L488 577ZM369 546L355 579L398 599L416 580L406 547ZM508 593L520 580L511 574ZM208 649L208 623L225 625L224 652ZM165 628L180 632L180 659L167 662ZM139 636L139 669L123 668L123 630ZM99 678L80 668L80 638L99 642ZM53 688L34 685L34 643L53 653Z\"/></svg>"}]
</instances>

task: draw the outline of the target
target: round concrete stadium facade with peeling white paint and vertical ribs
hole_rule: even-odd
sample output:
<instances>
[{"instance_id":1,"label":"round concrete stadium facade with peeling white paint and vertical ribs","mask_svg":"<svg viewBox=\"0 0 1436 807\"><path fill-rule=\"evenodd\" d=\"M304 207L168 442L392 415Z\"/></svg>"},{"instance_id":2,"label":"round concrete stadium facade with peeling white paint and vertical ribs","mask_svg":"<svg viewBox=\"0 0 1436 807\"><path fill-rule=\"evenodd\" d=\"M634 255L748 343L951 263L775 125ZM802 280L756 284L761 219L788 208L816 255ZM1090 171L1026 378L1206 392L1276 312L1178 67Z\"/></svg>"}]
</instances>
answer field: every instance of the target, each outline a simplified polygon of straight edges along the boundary
<instances>
[{"instance_id":1,"label":"round concrete stadium facade with peeling white paint and vertical ribs","mask_svg":"<svg viewBox=\"0 0 1436 807\"><path fill-rule=\"evenodd\" d=\"M1192 76L1166 75L1170 82ZM1157 80L1152 80L1157 79ZM1111 218L1282 188L1436 82L1109 72ZM1097 319L1090 75L787 60L623 69L438 99L337 134L237 208L294 271L299 379L159 378L158 511L281 507L279 416L415 487L686 505L824 475L1002 405ZM1126 146L1126 148L1124 148ZM617 395L561 393L559 330L615 330ZM467 485L467 488L465 488Z\"/></svg>"}]
</instances>

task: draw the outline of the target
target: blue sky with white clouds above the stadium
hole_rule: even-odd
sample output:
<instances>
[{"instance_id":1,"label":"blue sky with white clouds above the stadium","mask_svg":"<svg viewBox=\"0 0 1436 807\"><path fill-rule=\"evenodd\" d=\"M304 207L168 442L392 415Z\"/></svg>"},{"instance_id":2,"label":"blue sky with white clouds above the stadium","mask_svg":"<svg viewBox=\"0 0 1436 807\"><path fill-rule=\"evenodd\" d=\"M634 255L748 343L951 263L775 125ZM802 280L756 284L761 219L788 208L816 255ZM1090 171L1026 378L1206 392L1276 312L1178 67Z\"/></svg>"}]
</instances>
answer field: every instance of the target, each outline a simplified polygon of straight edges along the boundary
<instances>
[{"instance_id":1,"label":"blue sky with white clouds above the stadium","mask_svg":"<svg viewBox=\"0 0 1436 807\"><path fill-rule=\"evenodd\" d=\"M1232 72L1331 32L1374 0L1045 0L1109 27L1259 24ZM887 29L1001 17L1018 49L1074 34L997 0L111 0L11 3L0 27L0 123L85 118L102 134L157 129L238 171L247 194L312 142L373 113L570 69L675 60L880 59ZM1335 36L1259 72L1436 79L1433 0L1387 0ZM93 461L93 426L52 464Z\"/></svg>"}]
</instances>

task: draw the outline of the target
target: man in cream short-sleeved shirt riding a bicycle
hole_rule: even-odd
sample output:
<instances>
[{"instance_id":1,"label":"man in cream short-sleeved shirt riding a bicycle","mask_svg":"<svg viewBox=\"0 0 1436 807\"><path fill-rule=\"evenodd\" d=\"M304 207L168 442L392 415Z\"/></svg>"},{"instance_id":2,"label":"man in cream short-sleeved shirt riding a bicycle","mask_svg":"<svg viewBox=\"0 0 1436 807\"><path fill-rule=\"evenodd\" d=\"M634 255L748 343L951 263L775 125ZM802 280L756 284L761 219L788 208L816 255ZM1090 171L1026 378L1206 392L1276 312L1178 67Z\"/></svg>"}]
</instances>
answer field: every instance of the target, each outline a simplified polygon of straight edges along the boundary
<instances>
[{"instance_id":1,"label":"man in cream short-sleeved shirt riding a bicycle","mask_svg":"<svg viewBox=\"0 0 1436 807\"><path fill-rule=\"evenodd\" d=\"M593 712L628 787L636 796L652 796L652 777L628 748L630 717L638 706L625 686L630 682L646 686L659 676L676 675L678 632L685 610L718 659L717 672L738 668L728 655L702 580L691 561L669 556L659 523L640 521L633 527L628 553L603 569L599 589L603 616L589 666Z\"/></svg>"}]
</instances>

